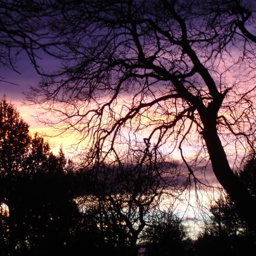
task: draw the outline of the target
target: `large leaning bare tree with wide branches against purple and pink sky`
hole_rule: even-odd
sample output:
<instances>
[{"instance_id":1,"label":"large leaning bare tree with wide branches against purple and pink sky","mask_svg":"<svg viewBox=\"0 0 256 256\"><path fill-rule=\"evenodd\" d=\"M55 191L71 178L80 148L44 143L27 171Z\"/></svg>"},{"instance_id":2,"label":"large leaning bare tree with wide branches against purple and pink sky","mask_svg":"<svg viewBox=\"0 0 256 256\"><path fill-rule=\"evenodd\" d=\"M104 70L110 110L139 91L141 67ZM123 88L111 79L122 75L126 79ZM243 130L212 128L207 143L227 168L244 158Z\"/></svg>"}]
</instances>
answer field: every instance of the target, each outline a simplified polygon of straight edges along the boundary
<instances>
[{"instance_id":1,"label":"large leaning bare tree with wide branches against purple and pink sky","mask_svg":"<svg viewBox=\"0 0 256 256\"><path fill-rule=\"evenodd\" d=\"M228 158L236 164L241 151L255 151L254 2L40 3L52 8L43 17L58 43L47 51L63 66L27 96L56 114L50 123L90 138L96 164L118 160L124 141L144 144L145 154L179 149L194 180L196 167L210 160L255 230L255 199ZM196 147L194 163L184 146Z\"/></svg>"}]
</instances>

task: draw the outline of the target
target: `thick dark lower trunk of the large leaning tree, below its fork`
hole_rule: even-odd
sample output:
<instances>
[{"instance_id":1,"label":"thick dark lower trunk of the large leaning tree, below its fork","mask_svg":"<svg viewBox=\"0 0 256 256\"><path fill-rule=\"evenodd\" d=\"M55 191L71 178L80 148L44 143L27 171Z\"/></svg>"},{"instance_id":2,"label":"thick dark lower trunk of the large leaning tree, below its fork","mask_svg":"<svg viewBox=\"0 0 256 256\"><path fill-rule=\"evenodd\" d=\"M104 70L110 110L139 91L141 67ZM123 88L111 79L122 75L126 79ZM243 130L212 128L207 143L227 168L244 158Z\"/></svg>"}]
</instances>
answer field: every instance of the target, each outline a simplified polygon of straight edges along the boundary
<instances>
[{"instance_id":1,"label":"thick dark lower trunk of the large leaning tree, below its fork","mask_svg":"<svg viewBox=\"0 0 256 256\"><path fill-rule=\"evenodd\" d=\"M206 122L203 137L216 178L234 201L237 213L256 232L256 200L230 168L216 125Z\"/></svg>"}]
</instances>

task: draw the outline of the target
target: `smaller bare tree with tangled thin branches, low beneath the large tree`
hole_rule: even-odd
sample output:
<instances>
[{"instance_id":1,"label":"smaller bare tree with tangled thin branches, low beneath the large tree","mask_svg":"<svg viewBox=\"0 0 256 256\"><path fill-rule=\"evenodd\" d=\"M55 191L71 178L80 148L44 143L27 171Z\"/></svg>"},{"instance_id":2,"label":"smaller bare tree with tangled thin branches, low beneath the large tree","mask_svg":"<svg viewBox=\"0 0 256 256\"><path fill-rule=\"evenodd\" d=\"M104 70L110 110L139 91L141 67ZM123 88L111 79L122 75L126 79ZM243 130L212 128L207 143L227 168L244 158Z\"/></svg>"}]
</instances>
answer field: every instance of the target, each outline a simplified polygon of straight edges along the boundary
<instances>
[{"instance_id":1,"label":"smaller bare tree with tangled thin branches, low beneath the large tree","mask_svg":"<svg viewBox=\"0 0 256 256\"><path fill-rule=\"evenodd\" d=\"M149 155L141 161L141 155L135 151L126 155L128 163L86 170L87 185L76 200L82 211L94 216L107 243L123 255L137 255L137 240L151 216L159 214L163 200L171 207L174 195L183 189L177 165L156 165Z\"/></svg>"}]
</instances>

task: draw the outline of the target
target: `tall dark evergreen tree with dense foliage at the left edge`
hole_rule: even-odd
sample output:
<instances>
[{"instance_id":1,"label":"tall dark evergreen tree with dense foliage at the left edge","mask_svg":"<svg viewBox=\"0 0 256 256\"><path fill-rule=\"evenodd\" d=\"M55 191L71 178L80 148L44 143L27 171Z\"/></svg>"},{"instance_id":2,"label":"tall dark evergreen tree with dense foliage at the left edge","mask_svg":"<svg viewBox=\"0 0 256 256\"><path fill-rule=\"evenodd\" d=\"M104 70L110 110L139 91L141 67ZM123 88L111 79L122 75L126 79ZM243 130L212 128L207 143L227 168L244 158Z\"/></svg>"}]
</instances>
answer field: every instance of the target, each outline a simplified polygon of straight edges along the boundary
<instances>
[{"instance_id":1,"label":"tall dark evergreen tree with dense foliage at the left edge","mask_svg":"<svg viewBox=\"0 0 256 256\"><path fill-rule=\"evenodd\" d=\"M63 254L81 219L71 193L74 175L62 150L55 156L42 137L31 137L6 99L0 101L0 156L2 255Z\"/></svg>"}]
</instances>

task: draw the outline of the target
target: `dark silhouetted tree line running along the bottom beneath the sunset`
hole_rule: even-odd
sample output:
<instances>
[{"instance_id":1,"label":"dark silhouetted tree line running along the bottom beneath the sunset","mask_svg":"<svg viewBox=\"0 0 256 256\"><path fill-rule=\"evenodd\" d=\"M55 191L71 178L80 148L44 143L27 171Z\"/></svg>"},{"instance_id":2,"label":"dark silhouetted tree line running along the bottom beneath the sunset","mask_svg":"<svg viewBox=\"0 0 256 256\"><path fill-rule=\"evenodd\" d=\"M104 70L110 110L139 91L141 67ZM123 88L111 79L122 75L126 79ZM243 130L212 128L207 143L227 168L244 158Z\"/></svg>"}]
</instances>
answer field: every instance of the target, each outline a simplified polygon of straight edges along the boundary
<instances>
[{"instance_id":1,"label":"dark silhouetted tree line running along the bottom beneath the sunset","mask_svg":"<svg viewBox=\"0 0 256 256\"><path fill-rule=\"evenodd\" d=\"M174 185L160 182L161 168L136 162L96 173L82 168L62 150L54 155L40 135L31 136L5 98L0 154L1 255L244 255L255 249L253 230L228 196L211 206L192 241L172 208L160 207L165 189ZM247 160L239 173L253 196L255 163Z\"/></svg>"}]
</instances>

